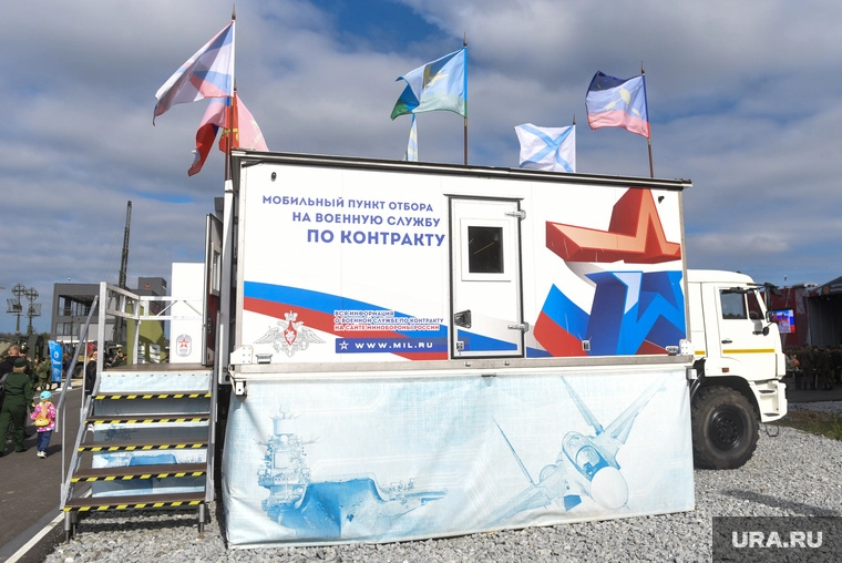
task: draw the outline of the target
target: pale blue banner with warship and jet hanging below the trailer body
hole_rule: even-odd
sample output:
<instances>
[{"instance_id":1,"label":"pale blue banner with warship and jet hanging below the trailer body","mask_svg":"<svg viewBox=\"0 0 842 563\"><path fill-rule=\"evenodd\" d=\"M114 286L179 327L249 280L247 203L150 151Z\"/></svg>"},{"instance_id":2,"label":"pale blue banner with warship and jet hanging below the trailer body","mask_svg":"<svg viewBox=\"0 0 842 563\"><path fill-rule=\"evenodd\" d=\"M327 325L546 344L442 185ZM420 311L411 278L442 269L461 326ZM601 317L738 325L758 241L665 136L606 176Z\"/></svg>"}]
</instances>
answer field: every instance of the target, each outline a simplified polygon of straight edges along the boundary
<instances>
[{"instance_id":1,"label":"pale blue banner with warship and jet hanging below the trailer body","mask_svg":"<svg viewBox=\"0 0 842 563\"><path fill-rule=\"evenodd\" d=\"M368 375L368 373L366 373ZM408 541L694 509L682 365L249 380L232 545Z\"/></svg>"}]
</instances>

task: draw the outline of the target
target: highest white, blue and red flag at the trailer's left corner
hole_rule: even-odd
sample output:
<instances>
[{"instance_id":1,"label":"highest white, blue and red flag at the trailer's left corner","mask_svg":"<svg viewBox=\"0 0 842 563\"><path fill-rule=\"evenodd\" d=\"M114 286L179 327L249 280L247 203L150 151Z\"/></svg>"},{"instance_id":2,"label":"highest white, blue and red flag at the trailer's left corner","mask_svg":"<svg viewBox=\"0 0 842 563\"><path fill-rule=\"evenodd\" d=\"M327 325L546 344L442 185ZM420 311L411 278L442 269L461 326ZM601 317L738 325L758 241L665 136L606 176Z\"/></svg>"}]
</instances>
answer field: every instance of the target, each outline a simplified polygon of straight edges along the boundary
<instances>
[{"instance_id":1,"label":"highest white, blue and red flag at the trailer's left corner","mask_svg":"<svg viewBox=\"0 0 842 563\"><path fill-rule=\"evenodd\" d=\"M234 21L189 58L155 93L155 117L178 103L234 93Z\"/></svg>"}]
</instances>

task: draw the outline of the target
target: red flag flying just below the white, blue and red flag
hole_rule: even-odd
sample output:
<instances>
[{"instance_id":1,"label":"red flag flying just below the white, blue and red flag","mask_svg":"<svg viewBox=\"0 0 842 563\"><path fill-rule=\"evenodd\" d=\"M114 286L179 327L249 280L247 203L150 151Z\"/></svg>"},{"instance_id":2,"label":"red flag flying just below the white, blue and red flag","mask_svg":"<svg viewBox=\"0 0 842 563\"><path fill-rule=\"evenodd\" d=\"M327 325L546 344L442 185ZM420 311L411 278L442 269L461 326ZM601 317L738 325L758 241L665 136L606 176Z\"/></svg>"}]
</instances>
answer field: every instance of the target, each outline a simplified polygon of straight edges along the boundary
<instances>
[{"instance_id":1,"label":"red flag flying just below the white, blue and red flag","mask_svg":"<svg viewBox=\"0 0 842 563\"><path fill-rule=\"evenodd\" d=\"M223 135L219 139L219 150L227 153L228 143L228 101L229 98L215 98L207 104L205 115L202 117L202 123L196 131L196 150L193 165L187 171L187 175L192 176L202 170L205 165L207 155L210 153L210 146L216 140L216 133L219 127L224 129ZM266 142L264 141L260 127L257 125L251 112L248 111L246 104L239 99L239 94L234 93L234 143L233 147L237 149L253 149L257 151L268 151Z\"/></svg>"}]
</instances>

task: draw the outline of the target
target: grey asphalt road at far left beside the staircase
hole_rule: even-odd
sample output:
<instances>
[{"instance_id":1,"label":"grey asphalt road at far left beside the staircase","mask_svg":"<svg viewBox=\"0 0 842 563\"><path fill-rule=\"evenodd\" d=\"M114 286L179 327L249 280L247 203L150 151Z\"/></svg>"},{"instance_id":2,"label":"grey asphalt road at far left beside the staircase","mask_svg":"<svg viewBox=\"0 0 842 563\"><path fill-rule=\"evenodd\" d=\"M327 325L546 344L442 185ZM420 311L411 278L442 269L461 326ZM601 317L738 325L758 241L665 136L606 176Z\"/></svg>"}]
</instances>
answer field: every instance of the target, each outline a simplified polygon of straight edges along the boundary
<instances>
[{"instance_id":1,"label":"grey asphalt road at far left beside the staircase","mask_svg":"<svg viewBox=\"0 0 842 563\"><path fill-rule=\"evenodd\" d=\"M53 393L59 405L59 393ZM4 443L0 458L0 562L7 561L47 523L60 514L61 483L70 465L79 432L82 405L82 380L73 380L59 413L59 428L53 431L47 459L37 455L35 427L28 419L23 442L27 451L17 453L11 441ZM68 444L65 448L64 444ZM63 526L59 526L63 534ZM63 539L63 535L62 535Z\"/></svg>"}]
</instances>

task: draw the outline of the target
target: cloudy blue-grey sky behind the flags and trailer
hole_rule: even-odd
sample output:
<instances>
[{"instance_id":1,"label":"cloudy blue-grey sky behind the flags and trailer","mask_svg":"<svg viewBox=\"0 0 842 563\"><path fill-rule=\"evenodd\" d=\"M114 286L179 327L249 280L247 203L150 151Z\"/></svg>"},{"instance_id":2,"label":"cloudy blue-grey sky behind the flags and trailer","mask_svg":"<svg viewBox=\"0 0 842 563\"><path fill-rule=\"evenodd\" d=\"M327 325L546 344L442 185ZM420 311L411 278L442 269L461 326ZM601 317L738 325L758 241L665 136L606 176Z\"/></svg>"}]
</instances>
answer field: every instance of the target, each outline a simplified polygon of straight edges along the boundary
<instances>
[{"instance_id":1,"label":"cloudy blue-grey sky behind the flags and trailer","mask_svg":"<svg viewBox=\"0 0 842 563\"><path fill-rule=\"evenodd\" d=\"M3 7L0 296L129 285L201 262L223 193L214 150L192 177L206 101L152 125L155 92L227 24L229 0ZM469 162L516 167L514 126L577 126L577 170L648 176L646 140L587 127L598 70L646 69L655 175L689 178L690 267L779 285L842 275L842 4L836 0L240 0L236 76L273 151L400 160L389 114L421 64L469 43ZM462 162L462 119L419 115L422 161ZM4 310L4 309L3 309ZM0 331L16 317L0 315ZM21 319L25 331L27 319Z\"/></svg>"}]
</instances>

